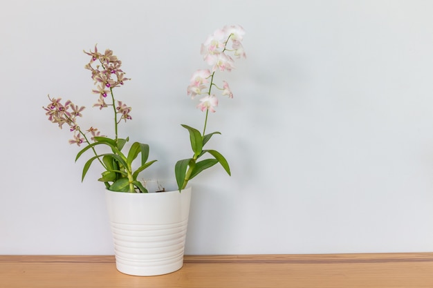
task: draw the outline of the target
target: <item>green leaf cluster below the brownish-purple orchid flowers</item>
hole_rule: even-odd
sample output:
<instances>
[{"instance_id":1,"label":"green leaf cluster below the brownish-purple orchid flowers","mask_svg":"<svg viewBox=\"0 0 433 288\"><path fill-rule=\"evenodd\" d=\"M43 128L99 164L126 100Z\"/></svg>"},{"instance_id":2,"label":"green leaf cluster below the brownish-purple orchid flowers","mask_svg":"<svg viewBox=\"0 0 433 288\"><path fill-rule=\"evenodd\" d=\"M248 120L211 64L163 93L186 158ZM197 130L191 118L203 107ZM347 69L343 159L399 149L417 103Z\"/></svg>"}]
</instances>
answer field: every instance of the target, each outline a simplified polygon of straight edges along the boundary
<instances>
[{"instance_id":1,"label":"green leaf cluster below the brownish-purple orchid flowers","mask_svg":"<svg viewBox=\"0 0 433 288\"><path fill-rule=\"evenodd\" d=\"M149 145L142 144L140 142L134 142L127 155L122 153L122 148L129 141L129 139L118 139L113 140L107 137L94 137L95 142L82 148L75 157L75 162L89 149L92 149L95 156L91 157L84 164L82 171L82 180L86 177L86 173L89 171L91 164L98 160L105 171L102 172L102 177L98 179L100 182L104 182L107 189L118 192L140 192L147 193L147 189L137 180L138 174L147 169L151 164L154 164L156 160L147 161L149 158ZM108 146L111 148L111 153L98 154L95 152L95 146ZM133 171L132 163L138 155L141 154L140 166L138 169Z\"/></svg>"}]
</instances>

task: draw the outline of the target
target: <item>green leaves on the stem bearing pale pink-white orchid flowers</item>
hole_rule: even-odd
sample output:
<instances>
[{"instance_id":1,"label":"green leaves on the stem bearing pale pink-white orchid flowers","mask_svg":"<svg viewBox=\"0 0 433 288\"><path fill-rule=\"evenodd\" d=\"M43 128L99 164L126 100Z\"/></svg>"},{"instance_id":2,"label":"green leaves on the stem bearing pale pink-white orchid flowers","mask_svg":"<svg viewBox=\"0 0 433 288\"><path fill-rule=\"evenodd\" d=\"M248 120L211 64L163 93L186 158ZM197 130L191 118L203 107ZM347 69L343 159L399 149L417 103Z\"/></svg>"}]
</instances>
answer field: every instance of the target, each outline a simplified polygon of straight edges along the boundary
<instances>
[{"instance_id":1,"label":"green leaves on the stem bearing pale pink-white orchid flowers","mask_svg":"<svg viewBox=\"0 0 433 288\"><path fill-rule=\"evenodd\" d=\"M187 183L192 178L199 175L199 173L203 172L205 169L214 166L216 163L221 164L228 175L231 175L230 166L221 153L215 150L203 150L203 146L205 146L213 135L221 133L213 132L207 135L201 135L200 131L196 128L184 124L182 124L182 126L190 133L191 148L194 155L191 158L179 160L174 166L179 191L185 189ZM203 155L210 155L212 157L199 161L199 158L203 157Z\"/></svg>"}]
</instances>

